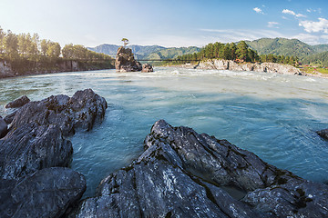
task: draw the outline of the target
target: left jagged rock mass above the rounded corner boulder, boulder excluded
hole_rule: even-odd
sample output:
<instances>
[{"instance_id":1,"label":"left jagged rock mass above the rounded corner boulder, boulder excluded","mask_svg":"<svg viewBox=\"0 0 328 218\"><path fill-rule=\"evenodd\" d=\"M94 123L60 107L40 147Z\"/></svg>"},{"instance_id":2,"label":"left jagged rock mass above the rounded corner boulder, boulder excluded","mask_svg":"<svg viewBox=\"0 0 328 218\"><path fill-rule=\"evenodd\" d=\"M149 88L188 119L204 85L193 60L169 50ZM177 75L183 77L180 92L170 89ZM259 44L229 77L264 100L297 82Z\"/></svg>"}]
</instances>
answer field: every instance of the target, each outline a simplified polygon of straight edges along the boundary
<instances>
[{"instance_id":1,"label":"left jagged rock mass above the rounded corner boulder, boulder excluded","mask_svg":"<svg viewBox=\"0 0 328 218\"><path fill-rule=\"evenodd\" d=\"M65 136L77 129L90 130L106 108L106 100L91 89L24 105L0 140L0 178L16 179L43 168L67 166L73 149Z\"/></svg>"}]
</instances>

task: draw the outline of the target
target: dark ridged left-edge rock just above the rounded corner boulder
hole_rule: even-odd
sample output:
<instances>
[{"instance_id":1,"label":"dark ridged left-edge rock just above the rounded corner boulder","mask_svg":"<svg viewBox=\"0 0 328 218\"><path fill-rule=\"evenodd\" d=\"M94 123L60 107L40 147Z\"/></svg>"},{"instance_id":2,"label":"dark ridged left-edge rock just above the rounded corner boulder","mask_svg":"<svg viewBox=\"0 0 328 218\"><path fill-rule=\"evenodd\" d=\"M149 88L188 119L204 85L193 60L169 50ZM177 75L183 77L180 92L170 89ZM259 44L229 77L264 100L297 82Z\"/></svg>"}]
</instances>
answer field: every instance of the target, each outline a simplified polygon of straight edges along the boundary
<instances>
[{"instance_id":1,"label":"dark ridged left-edge rock just above the rounded corner boulder","mask_svg":"<svg viewBox=\"0 0 328 218\"><path fill-rule=\"evenodd\" d=\"M52 166L67 166L73 154L58 125L22 124L0 141L0 178L16 179Z\"/></svg>"}]
</instances>

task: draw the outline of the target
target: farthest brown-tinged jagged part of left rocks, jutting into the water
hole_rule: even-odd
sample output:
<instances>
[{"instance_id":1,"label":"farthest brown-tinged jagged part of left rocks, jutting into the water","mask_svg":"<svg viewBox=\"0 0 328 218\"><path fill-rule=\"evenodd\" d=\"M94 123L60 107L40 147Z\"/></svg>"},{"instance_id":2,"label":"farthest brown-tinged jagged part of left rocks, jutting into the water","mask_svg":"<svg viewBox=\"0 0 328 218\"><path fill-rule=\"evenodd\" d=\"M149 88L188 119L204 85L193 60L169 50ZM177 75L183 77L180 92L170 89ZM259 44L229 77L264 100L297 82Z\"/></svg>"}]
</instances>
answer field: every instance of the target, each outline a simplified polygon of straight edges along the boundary
<instances>
[{"instance_id":1,"label":"farthest brown-tinged jagged part of left rocks, jutting into the water","mask_svg":"<svg viewBox=\"0 0 328 218\"><path fill-rule=\"evenodd\" d=\"M56 124L64 135L74 134L76 129L90 130L101 120L108 105L103 97L91 89L77 91L72 97L60 94L23 106L15 114L11 129L23 124Z\"/></svg>"}]
</instances>

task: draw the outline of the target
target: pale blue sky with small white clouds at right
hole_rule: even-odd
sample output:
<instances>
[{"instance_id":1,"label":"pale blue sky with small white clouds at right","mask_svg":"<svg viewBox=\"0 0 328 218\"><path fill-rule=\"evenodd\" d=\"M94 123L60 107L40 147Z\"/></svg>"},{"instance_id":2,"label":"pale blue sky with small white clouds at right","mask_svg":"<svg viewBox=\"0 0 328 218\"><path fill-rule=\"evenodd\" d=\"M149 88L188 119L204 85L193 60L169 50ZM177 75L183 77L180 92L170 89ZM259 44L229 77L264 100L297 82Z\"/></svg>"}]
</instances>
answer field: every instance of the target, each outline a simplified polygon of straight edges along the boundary
<instances>
[{"instance_id":1,"label":"pale blue sky with small white clouds at right","mask_svg":"<svg viewBox=\"0 0 328 218\"><path fill-rule=\"evenodd\" d=\"M0 26L86 46L190 46L261 37L328 44L327 0L1 0Z\"/></svg>"}]
</instances>

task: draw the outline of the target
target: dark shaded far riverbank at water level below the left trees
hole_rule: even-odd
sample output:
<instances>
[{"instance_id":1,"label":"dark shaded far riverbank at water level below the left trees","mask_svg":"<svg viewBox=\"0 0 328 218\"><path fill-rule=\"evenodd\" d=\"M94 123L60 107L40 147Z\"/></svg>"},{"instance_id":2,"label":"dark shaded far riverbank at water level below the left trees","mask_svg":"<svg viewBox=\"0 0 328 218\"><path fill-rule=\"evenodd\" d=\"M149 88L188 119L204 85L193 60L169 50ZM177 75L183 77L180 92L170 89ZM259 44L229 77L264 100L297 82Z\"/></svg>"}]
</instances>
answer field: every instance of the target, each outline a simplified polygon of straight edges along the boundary
<instances>
[{"instance_id":1,"label":"dark shaded far riverbank at water level below the left trees","mask_svg":"<svg viewBox=\"0 0 328 218\"><path fill-rule=\"evenodd\" d=\"M114 65L108 61L81 61L58 59L49 62L26 62L24 64L12 64L0 60L0 79L31 74L54 74L62 72L92 71L113 69Z\"/></svg>"}]
</instances>

